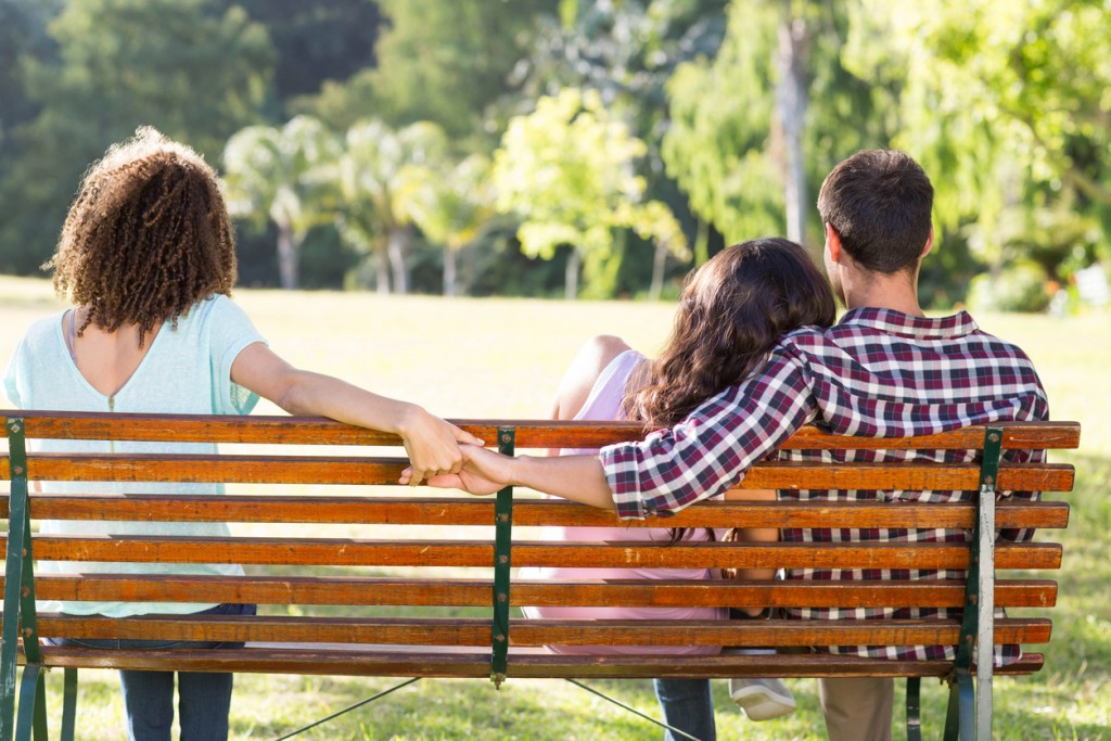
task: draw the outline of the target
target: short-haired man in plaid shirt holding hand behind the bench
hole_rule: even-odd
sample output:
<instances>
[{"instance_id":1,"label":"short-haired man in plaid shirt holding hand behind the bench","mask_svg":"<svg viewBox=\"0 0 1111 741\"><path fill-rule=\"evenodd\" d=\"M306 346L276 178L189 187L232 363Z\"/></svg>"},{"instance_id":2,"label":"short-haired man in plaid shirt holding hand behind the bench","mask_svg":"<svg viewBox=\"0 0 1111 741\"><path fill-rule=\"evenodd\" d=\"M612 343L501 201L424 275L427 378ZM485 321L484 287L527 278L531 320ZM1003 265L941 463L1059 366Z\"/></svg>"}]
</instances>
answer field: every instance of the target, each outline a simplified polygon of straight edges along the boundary
<instances>
[{"instance_id":1,"label":"short-haired man in plaid shirt holding hand behind the bench","mask_svg":"<svg viewBox=\"0 0 1111 741\"><path fill-rule=\"evenodd\" d=\"M597 455L510 459L467 448L458 477L438 485L492 493L523 485L583 503L617 509L625 519L673 512L713 497L752 463L777 451L805 423L838 433L878 438L931 434L1001 420L1048 418L1045 393L1030 359L1013 344L980 331L964 311L927 318L918 300L921 260L933 246L933 188L910 157L869 150L844 160L825 179L818 199L825 227L824 261L838 298L848 309L829 329L803 328L780 338L764 369L723 390L670 430L642 442L603 448ZM466 448L466 447L464 447ZM823 460L830 451L779 451L784 459ZM853 460L968 460L965 451L888 450L844 453ZM1009 460L1034 460L1038 451L1008 451ZM1012 492L1031 498L1033 492ZM789 492L780 497L948 501L961 492ZM784 541L963 540L962 531L789 529ZM1027 539L1032 533L1003 531ZM919 571L912 578L963 573ZM880 578L860 570L789 570L788 579ZM908 608L792 609L788 617L832 619L943 610ZM847 647L845 652L891 659L952 658L952 647ZM1002 647L997 660L1017 655ZM845 741L891 738L891 679L821 681L829 737Z\"/></svg>"}]
</instances>

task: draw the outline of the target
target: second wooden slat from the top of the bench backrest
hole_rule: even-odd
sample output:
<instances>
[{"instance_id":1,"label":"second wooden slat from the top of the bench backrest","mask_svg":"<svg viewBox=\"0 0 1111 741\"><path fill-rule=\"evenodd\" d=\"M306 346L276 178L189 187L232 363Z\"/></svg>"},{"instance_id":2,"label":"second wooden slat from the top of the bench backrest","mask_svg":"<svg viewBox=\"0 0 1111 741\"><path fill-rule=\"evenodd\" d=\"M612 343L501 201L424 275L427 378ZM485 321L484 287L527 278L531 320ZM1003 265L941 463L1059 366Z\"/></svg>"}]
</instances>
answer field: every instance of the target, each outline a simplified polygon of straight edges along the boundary
<instances>
[{"instance_id":1,"label":"second wooden slat from the top of the bench backrest","mask_svg":"<svg viewBox=\"0 0 1111 741\"><path fill-rule=\"evenodd\" d=\"M28 474L41 481L163 481L192 483L396 484L403 459L320 455L71 454L28 458ZM2 471L0 471L2 472ZM1067 491L1071 465L1001 465L1002 490ZM749 469L742 489L882 489L978 491L971 463L768 462Z\"/></svg>"}]
</instances>

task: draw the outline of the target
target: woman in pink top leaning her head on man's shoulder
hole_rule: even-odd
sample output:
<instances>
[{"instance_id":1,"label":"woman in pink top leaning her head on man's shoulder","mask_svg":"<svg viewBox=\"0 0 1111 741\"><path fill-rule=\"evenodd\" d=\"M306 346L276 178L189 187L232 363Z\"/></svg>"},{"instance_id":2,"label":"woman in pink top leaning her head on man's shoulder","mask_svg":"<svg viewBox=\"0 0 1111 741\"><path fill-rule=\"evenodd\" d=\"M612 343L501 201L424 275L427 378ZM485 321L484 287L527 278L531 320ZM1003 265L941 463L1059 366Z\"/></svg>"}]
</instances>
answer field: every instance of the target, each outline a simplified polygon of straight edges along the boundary
<instances>
[{"instance_id":1,"label":"woman in pink top leaning her head on man's shoulder","mask_svg":"<svg viewBox=\"0 0 1111 741\"><path fill-rule=\"evenodd\" d=\"M589 341L568 369L557 392L553 418L629 419L652 428L672 427L707 399L759 372L781 334L801 327L829 327L835 303L825 278L805 250L784 239L758 239L727 248L692 274L674 330L663 351L649 360L617 337ZM588 452L588 451L563 451ZM727 498L774 501L767 490L733 491ZM546 540L708 540L752 542L778 539L774 529L708 530L648 528L546 528ZM772 570L741 570L738 578L771 579ZM709 570L534 569L540 579L719 578ZM759 609L745 611L759 613ZM713 620L728 617L714 608L526 608L531 618ZM549 647L562 653L593 653L597 647ZM610 649L621 652L620 647ZM631 653L718 653L718 647L629 647ZM715 735L709 680L661 679L657 697L669 725L698 739ZM733 680L730 693L752 720L791 712L794 700L779 680ZM668 732L667 739L673 738Z\"/></svg>"}]
</instances>

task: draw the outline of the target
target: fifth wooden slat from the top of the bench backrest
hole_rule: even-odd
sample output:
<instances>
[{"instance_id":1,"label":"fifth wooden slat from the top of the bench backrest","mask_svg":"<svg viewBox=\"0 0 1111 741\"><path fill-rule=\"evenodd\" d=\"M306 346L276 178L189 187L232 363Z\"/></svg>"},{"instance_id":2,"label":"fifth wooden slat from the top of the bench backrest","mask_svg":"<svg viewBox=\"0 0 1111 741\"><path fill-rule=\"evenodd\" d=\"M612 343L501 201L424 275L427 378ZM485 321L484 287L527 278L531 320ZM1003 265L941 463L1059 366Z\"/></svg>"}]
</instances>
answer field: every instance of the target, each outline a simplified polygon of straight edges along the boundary
<instances>
[{"instance_id":1,"label":"fifth wooden slat from the top of the bench backrest","mask_svg":"<svg viewBox=\"0 0 1111 741\"><path fill-rule=\"evenodd\" d=\"M3 579L0 578L0 585ZM400 577L173 577L162 574L42 575L36 594L42 600L97 602L213 602L258 604L450 605L488 608L492 582L481 579L406 579ZM1051 580L997 580L1001 608L1050 608L1058 587ZM964 603L962 581L747 582L607 580L553 582L518 579L513 605L629 607L840 607L917 605L958 608Z\"/></svg>"}]
</instances>

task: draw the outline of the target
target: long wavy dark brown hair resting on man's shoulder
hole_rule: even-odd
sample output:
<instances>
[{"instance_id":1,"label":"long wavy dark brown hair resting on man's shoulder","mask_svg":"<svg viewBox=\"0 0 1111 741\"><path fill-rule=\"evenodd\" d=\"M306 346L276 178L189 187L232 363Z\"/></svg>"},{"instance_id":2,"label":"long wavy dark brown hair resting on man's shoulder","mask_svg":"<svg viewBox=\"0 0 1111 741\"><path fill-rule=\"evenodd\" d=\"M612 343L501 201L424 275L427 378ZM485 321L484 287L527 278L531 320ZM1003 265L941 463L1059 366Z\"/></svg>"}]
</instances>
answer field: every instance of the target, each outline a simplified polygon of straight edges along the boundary
<instances>
[{"instance_id":1,"label":"long wavy dark brown hair resting on man's shoulder","mask_svg":"<svg viewBox=\"0 0 1111 741\"><path fill-rule=\"evenodd\" d=\"M807 251L785 239L725 248L688 279L675 326L622 400L631 420L672 427L702 402L763 369L780 336L830 327L837 303ZM684 535L673 530L672 538Z\"/></svg>"}]
</instances>

